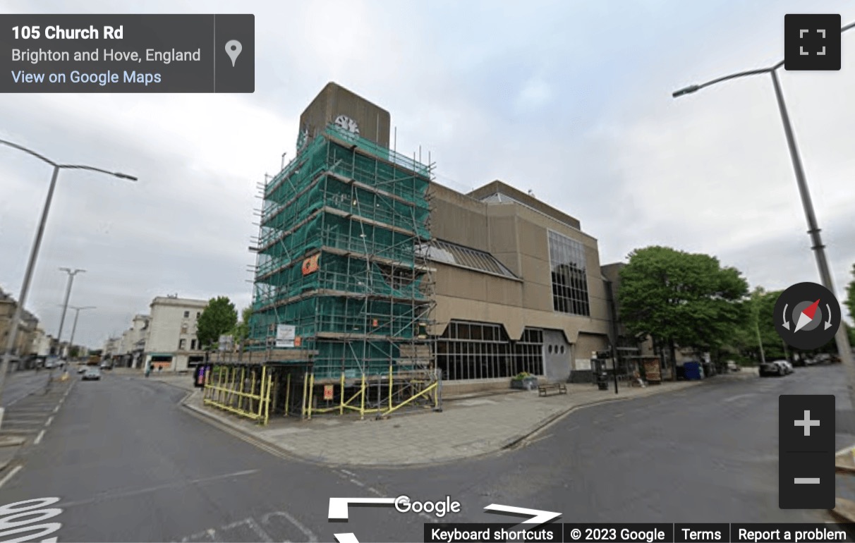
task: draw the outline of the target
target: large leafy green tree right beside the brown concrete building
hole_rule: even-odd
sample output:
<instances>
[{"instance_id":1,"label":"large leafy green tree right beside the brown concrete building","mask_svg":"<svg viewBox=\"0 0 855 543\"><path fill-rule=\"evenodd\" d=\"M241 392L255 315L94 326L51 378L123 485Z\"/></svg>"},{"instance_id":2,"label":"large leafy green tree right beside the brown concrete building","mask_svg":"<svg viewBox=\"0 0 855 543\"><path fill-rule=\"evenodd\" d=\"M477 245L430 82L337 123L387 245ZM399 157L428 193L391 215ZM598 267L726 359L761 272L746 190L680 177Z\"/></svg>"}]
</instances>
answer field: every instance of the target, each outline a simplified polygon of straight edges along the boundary
<instances>
[{"instance_id":1,"label":"large leafy green tree right beside the brown concrete building","mask_svg":"<svg viewBox=\"0 0 855 543\"><path fill-rule=\"evenodd\" d=\"M676 345L715 351L745 327L747 294L740 272L716 257L652 246L630 253L617 298L628 331L667 345L673 367Z\"/></svg>"}]
</instances>

